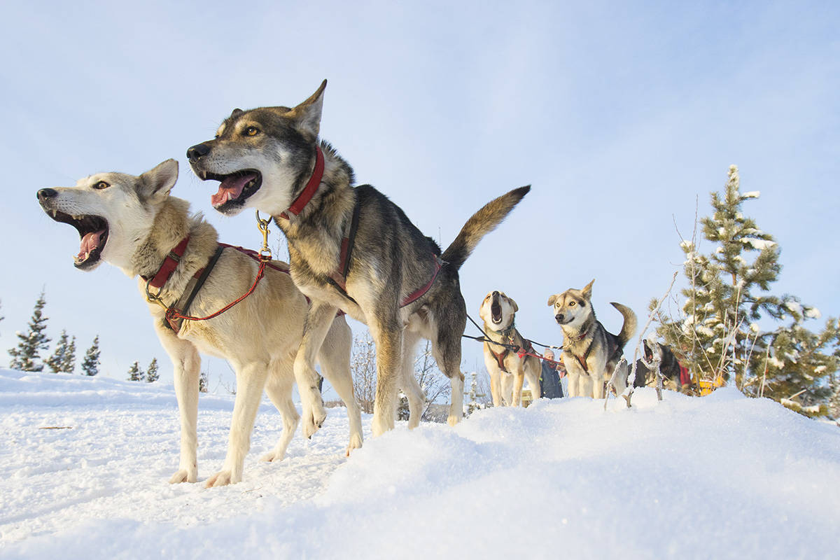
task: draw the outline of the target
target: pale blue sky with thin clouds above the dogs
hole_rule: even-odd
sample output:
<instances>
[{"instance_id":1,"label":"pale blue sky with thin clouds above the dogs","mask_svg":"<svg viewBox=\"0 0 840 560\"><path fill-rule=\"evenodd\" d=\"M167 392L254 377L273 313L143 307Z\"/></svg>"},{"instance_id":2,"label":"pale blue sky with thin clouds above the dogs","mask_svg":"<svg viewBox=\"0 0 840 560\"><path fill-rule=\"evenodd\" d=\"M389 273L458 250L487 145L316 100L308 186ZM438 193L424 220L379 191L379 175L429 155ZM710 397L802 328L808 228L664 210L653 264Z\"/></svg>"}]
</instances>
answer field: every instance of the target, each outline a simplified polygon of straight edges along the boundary
<instances>
[{"instance_id":1,"label":"pale blue sky with thin clouds above the dogs","mask_svg":"<svg viewBox=\"0 0 840 560\"><path fill-rule=\"evenodd\" d=\"M98 334L102 374L157 357L171 379L134 281L76 270L75 230L35 192L176 158L173 195L257 248L252 215L213 211L186 149L234 107L294 105L324 78L322 137L444 247L487 201L533 186L460 271L476 319L502 290L526 337L559 343L548 296L594 278L608 330L610 301L643 324L732 164L761 191L744 212L780 243L774 291L840 312L836 3L139 4L4 4L0 354L44 289L53 340L66 328L81 356ZM463 348L463 369L483 370L480 344ZM211 387L229 371L210 362Z\"/></svg>"}]
</instances>

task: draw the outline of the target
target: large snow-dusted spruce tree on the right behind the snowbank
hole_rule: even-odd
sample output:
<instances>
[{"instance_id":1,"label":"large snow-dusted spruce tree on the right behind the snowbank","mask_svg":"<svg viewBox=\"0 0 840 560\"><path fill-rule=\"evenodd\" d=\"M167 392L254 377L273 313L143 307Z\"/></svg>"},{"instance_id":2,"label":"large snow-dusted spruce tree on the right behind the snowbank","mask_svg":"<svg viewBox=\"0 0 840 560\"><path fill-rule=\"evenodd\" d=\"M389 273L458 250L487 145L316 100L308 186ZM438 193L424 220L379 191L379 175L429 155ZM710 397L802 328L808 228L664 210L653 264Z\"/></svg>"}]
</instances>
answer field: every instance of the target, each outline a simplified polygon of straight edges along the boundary
<instances>
[{"instance_id":1,"label":"large snow-dusted spruce tree on the right behind the snowbank","mask_svg":"<svg viewBox=\"0 0 840 560\"><path fill-rule=\"evenodd\" d=\"M711 193L714 213L701 219L703 237L714 243L715 249L705 255L698 253L693 241L680 243L685 253L683 270L689 283L682 290L685 304L679 319L659 317L659 335L690 368L695 379L698 375L710 380L734 378L739 388L754 396L761 394L764 379L763 395L780 400L806 385L818 384L816 378L795 373L790 374L790 385L764 377L769 346L774 343L801 346L796 352L786 353L780 347L783 354L801 353L811 357L813 363L803 361L801 369L827 366L822 363L824 354L819 352L824 344L812 349L815 343L809 338L812 333L801 327L806 318L819 317L819 311L801 305L794 296L769 293L781 270L779 247L769 233L743 215L743 202L757 199L759 192L741 193L736 166L729 168L728 175L723 193ZM758 324L763 317L777 322L790 319L790 326L763 332ZM823 334L814 336L822 338ZM811 372L809 376L813 378L814 374L821 376L820 372ZM785 393L791 385L799 389Z\"/></svg>"}]
</instances>

